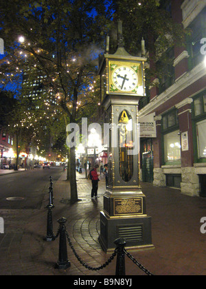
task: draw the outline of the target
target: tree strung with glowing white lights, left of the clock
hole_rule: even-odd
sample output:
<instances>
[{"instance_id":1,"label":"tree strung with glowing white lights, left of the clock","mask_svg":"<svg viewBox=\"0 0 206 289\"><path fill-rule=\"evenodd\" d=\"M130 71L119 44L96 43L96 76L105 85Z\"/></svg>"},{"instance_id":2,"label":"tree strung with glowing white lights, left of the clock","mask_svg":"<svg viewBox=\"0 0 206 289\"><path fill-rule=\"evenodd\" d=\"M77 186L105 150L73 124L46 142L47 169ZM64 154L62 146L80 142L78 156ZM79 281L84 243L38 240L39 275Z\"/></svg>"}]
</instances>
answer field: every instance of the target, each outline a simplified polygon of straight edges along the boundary
<instances>
[{"instance_id":1,"label":"tree strung with glowing white lights, left of the clock","mask_svg":"<svg viewBox=\"0 0 206 289\"><path fill-rule=\"evenodd\" d=\"M98 54L111 22L107 1L8 0L1 5L1 27L6 58L1 61L3 81L32 83L42 77L47 94L56 97L58 109L69 122L78 122L84 109L98 105ZM18 43L18 36L22 35ZM94 109L91 109L94 110ZM70 150L71 202L78 200L75 147Z\"/></svg>"}]
</instances>

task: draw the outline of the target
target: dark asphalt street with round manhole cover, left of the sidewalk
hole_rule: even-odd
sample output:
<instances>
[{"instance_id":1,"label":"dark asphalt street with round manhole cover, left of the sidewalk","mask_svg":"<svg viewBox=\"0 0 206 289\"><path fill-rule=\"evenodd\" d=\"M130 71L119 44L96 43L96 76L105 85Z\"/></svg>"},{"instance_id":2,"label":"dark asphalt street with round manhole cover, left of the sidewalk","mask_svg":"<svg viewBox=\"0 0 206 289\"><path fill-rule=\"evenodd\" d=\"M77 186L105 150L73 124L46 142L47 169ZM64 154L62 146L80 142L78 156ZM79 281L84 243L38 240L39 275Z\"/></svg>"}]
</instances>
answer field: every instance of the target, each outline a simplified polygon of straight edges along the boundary
<instances>
[{"instance_id":1,"label":"dark asphalt street with round manhole cover, left of the sidewalk","mask_svg":"<svg viewBox=\"0 0 206 289\"><path fill-rule=\"evenodd\" d=\"M45 191L49 187L49 175L52 175L55 182L61 172L62 167L21 170L16 173L4 170L0 173L0 208L41 208Z\"/></svg>"}]
</instances>

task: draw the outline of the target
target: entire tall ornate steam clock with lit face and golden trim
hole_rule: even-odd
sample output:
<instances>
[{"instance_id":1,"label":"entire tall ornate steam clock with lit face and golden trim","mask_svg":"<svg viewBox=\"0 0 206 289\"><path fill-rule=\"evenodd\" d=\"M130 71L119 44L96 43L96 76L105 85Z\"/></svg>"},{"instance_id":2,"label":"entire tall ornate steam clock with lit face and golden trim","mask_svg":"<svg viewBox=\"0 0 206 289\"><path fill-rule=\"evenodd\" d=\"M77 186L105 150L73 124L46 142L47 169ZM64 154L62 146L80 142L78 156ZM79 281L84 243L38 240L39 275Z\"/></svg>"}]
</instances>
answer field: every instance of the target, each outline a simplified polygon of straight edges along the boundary
<instances>
[{"instance_id":1,"label":"entire tall ornate steam clock with lit face and golden trim","mask_svg":"<svg viewBox=\"0 0 206 289\"><path fill-rule=\"evenodd\" d=\"M115 239L127 248L150 248L151 217L146 215L146 196L140 186L139 99L146 96L145 57L131 56L124 49L122 22L117 25L118 47L100 56L102 105L108 116L108 186L100 213L100 244L104 251L115 248Z\"/></svg>"}]
</instances>

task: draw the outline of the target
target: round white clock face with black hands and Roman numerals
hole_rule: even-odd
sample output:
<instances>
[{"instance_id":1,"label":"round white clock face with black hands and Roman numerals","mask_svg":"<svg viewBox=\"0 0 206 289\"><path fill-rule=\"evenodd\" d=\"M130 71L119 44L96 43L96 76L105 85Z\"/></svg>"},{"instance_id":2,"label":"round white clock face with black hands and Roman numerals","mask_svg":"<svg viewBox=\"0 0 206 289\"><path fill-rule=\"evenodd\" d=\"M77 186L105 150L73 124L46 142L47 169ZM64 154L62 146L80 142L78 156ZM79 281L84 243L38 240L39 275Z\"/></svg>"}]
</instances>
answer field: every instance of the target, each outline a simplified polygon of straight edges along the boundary
<instances>
[{"instance_id":1,"label":"round white clock face with black hands and Roman numerals","mask_svg":"<svg viewBox=\"0 0 206 289\"><path fill-rule=\"evenodd\" d=\"M122 92L131 92L137 88L137 72L129 66L119 66L114 69L112 74L113 85Z\"/></svg>"}]
</instances>

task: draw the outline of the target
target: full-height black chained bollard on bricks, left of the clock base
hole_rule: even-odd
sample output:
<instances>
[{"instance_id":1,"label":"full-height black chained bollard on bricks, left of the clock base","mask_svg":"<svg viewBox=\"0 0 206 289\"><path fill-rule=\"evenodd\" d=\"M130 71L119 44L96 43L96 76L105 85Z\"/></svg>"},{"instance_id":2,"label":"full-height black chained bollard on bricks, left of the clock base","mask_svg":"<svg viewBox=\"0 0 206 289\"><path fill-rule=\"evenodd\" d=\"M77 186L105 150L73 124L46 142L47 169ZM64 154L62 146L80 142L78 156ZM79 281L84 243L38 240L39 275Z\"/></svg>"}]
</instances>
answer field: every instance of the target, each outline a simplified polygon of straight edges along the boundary
<instances>
[{"instance_id":1,"label":"full-height black chained bollard on bricks, left of the clock base","mask_svg":"<svg viewBox=\"0 0 206 289\"><path fill-rule=\"evenodd\" d=\"M59 251L58 251L58 261L56 263L55 268L57 269L67 269L71 266L71 263L67 257L67 236L66 236L66 226L65 223L67 222L67 219L65 217L62 217L58 220L58 223L60 224L59 228Z\"/></svg>"}]
</instances>

